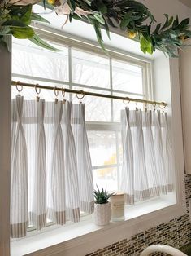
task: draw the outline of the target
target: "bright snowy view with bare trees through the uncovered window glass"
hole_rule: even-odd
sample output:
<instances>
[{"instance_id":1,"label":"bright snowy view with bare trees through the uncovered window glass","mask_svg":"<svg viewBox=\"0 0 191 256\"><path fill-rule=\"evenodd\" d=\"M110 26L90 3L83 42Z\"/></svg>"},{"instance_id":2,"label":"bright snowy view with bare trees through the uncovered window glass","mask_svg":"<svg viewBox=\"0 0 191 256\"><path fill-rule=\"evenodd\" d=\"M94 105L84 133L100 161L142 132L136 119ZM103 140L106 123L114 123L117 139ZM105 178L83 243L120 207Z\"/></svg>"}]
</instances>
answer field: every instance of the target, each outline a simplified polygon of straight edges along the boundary
<instances>
[{"instance_id":1,"label":"bright snowy view with bare trees through the uncovered window glass","mask_svg":"<svg viewBox=\"0 0 191 256\"><path fill-rule=\"evenodd\" d=\"M24 40L13 42L12 76L15 81L75 90L93 91L98 94L121 95L144 98L144 65L130 60L113 60L107 56L87 53L69 46L56 46L62 51L53 53L40 49ZM17 95L15 87L12 97ZM22 91L24 99L34 99L36 92L30 88ZM54 91L41 90L41 98L54 100ZM62 94L59 94L59 99ZM66 99L79 102L76 95L66 94ZM85 96L86 126L92 158L94 186L118 189L118 177L122 164L120 139L120 110L124 104L119 100ZM135 108L135 104L130 104Z\"/></svg>"}]
</instances>

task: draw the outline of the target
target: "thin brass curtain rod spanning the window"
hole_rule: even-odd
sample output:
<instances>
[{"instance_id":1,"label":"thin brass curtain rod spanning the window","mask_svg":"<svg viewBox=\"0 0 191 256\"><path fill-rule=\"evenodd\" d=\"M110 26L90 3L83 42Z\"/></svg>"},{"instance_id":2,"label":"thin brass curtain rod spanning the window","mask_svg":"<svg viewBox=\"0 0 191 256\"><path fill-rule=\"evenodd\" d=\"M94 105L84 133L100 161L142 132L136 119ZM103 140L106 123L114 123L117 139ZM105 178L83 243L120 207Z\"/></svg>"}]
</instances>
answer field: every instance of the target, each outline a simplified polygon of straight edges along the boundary
<instances>
[{"instance_id":1,"label":"thin brass curtain rod spanning the window","mask_svg":"<svg viewBox=\"0 0 191 256\"><path fill-rule=\"evenodd\" d=\"M167 104L165 102L158 102L158 101L152 101L152 100L146 100L146 99L134 99L134 98L129 98L129 97L121 97L121 96L115 96L115 95L103 95L103 94L98 94L94 92L89 92L85 90L72 90L72 89L67 89L67 88L58 88L58 87L53 87L53 86L41 86L39 84L30 84L26 82L16 82L12 81L11 82L12 86L24 86L24 87L33 87L33 88L40 88L40 89L46 89L46 90L54 90L54 91L63 91L63 92L68 92L68 93L75 93L76 95L89 95L89 96L96 96L96 97L102 97L102 98L107 98L107 99L121 99L124 101L130 101L132 102L137 102L137 103L143 103L143 104L153 104L154 106L159 105L161 108L165 108Z\"/></svg>"}]
</instances>

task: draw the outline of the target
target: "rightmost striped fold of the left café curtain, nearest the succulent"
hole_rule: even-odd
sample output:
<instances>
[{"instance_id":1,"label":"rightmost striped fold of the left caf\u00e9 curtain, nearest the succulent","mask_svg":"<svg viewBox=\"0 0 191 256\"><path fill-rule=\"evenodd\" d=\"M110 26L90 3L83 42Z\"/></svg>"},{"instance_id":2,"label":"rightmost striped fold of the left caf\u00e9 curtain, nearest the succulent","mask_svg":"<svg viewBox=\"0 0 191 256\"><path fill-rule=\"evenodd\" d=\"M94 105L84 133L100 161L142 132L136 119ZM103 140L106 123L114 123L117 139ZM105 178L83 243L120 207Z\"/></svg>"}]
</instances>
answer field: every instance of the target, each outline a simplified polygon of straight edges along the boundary
<instances>
[{"instance_id":1,"label":"rightmost striped fold of the left caf\u00e9 curtain, nearest the succulent","mask_svg":"<svg viewBox=\"0 0 191 256\"><path fill-rule=\"evenodd\" d=\"M80 210L93 213L93 176L87 131L85 129L85 104L72 105L72 131L76 144Z\"/></svg>"}]
</instances>

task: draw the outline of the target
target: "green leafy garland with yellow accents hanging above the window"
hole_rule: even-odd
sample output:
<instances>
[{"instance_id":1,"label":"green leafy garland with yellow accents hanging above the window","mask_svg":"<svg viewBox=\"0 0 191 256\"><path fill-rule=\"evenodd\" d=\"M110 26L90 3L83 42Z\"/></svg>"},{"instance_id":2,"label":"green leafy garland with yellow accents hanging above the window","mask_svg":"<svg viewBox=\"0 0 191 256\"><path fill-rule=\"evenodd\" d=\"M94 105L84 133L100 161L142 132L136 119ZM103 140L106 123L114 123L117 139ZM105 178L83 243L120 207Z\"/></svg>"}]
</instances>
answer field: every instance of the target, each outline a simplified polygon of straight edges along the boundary
<instances>
[{"instance_id":1,"label":"green leafy garland with yellow accents hanging above the window","mask_svg":"<svg viewBox=\"0 0 191 256\"><path fill-rule=\"evenodd\" d=\"M176 57L177 51L184 46L184 40L191 38L189 18L179 21L178 16L165 14L164 24L156 24L154 15L147 7L136 0L0 0L0 43L6 45L5 35L15 38L28 38L38 46L58 51L44 42L30 26L32 21L49 23L36 13L33 4L43 4L58 14L67 15L68 20L87 20L95 29L98 42L104 48L101 29L105 28L110 37L110 27L119 28L128 38L140 42L141 51L153 54L158 49L170 57Z\"/></svg>"}]
</instances>

